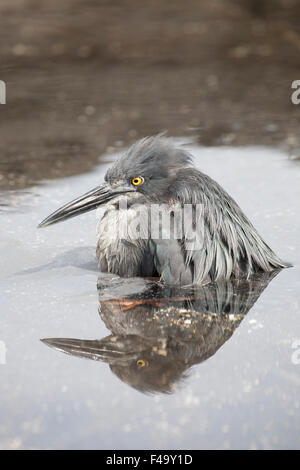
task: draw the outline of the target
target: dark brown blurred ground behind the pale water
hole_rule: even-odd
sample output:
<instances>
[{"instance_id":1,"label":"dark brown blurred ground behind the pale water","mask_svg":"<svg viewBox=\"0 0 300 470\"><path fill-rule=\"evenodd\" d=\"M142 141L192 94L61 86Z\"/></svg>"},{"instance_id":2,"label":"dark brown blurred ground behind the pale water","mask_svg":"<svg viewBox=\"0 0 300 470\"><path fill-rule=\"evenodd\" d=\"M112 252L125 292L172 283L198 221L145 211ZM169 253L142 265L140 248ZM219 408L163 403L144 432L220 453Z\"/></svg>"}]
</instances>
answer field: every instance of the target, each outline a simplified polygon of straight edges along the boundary
<instances>
[{"instance_id":1,"label":"dark brown blurred ground behind the pale water","mask_svg":"<svg viewBox=\"0 0 300 470\"><path fill-rule=\"evenodd\" d=\"M298 0L1 0L0 188L162 130L300 155Z\"/></svg>"}]
</instances>

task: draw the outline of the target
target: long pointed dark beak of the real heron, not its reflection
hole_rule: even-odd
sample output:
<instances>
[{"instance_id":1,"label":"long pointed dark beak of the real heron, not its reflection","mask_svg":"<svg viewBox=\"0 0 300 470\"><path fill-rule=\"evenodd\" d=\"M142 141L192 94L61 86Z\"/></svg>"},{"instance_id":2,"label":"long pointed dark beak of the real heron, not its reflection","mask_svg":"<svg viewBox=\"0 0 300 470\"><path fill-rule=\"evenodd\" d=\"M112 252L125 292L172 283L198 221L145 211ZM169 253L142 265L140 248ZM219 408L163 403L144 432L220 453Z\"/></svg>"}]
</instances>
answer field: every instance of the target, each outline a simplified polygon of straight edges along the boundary
<instances>
[{"instance_id":1,"label":"long pointed dark beak of the real heron, not its reflection","mask_svg":"<svg viewBox=\"0 0 300 470\"><path fill-rule=\"evenodd\" d=\"M79 214L83 214L84 212L91 211L103 204L106 204L120 194L125 194L131 191L134 191L134 189L131 189L124 183L116 186L104 183L83 196L74 199L74 201L65 204L63 207L44 219L38 227L47 227L48 225L62 222L63 220L70 219L71 217L76 217Z\"/></svg>"}]
</instances>

